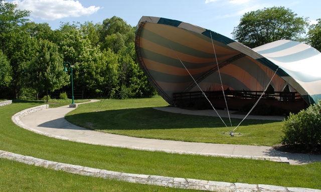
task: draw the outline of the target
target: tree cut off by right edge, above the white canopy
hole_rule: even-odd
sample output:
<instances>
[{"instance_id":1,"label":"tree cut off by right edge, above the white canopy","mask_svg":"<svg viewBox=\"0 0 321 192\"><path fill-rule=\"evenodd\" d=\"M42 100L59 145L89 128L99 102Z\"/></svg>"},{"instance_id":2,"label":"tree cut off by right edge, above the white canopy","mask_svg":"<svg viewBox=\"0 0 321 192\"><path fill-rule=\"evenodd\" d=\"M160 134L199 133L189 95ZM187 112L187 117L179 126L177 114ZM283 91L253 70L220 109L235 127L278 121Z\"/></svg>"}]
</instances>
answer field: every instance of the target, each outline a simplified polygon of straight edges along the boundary
<instances>
[{"instance_id":1,"label":"tree cut off by right edge, above the white canopy","mask_svg":"<svg viewBox=\"0 0 321 192\"><path fill-rule=\"evenodd\" d=\"M311 46L321 51L321 18L317 19L316 24L309 26L306 41Z\"/></svg>"}]
</instances>

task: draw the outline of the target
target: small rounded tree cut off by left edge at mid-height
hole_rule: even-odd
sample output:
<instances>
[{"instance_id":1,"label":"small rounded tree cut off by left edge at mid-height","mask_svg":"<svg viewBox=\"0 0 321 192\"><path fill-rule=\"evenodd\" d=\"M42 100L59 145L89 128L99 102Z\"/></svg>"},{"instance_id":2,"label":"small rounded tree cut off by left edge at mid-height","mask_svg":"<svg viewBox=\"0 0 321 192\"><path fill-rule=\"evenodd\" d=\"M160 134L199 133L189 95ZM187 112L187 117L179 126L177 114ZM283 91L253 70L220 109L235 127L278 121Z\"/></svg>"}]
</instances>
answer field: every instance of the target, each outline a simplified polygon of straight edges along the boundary
<instances>
[{"instance_id":1,"label":"small rounded tree cut off by left edge at mid-height","mask_svg":"<svg viewBox=\"0 0 321 192\"><path fill-rule=\"evenodd\" d=\"M11 82L12 68L10 62L2 51L0 51L0 88L7 87Z\"/></svg>"}]
</instances>

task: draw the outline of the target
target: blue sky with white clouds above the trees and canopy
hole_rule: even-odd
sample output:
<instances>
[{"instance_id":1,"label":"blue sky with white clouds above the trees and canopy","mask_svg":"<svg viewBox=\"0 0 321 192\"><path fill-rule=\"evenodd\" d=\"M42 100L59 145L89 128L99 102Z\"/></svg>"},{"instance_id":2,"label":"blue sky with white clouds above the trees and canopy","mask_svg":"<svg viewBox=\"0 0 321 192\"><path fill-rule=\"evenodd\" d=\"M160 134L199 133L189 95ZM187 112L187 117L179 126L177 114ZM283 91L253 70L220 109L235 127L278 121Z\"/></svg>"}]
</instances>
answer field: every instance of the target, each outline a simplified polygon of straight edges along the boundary
<instances>
[{"instance_id":1,"label":"blue sky with white clouds above the trees and canopy","mask_svg":"<svg viewBox=\"0 0 321 192\"><path fill-rule=\"evenodd\" d=\"M321 0L6 0L31 10L30 19L57 29L60 22L100 22L112 16L135 26L141 16L176 19L232 38L241 16L264 7L284 6L311 23L321 18Z\"/></svg>"}]
</instances>

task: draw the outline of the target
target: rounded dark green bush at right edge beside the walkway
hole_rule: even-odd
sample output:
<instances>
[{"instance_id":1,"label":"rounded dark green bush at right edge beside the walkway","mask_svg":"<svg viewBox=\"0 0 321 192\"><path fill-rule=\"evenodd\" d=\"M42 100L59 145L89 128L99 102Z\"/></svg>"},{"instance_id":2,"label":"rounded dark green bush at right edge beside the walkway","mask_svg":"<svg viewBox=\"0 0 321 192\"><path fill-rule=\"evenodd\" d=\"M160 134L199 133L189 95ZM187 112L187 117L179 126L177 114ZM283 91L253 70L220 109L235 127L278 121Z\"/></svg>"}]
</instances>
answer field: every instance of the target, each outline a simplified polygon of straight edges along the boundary
<instances>
[{"instance_id":1,"label":"rounded dark green bush at right edge beside the walkway","mask_svg":"<svg viewBox=\"0 0 321 192\"><path fill-rule=\"evenodd\" d=\"M304 151L319 151L321 146L321 101L284 120L282 144Z\"/></svg>"}]
</instances>

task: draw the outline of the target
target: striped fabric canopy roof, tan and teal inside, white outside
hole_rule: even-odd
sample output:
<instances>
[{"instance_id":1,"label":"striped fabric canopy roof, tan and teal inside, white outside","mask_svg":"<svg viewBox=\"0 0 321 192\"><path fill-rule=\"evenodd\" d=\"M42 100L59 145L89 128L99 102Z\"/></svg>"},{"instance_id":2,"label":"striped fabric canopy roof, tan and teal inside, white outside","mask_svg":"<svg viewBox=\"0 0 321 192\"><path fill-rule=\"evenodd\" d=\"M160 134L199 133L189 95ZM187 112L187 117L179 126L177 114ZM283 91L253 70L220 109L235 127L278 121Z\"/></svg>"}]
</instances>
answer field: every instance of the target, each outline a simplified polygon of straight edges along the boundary
<instances>
[{"instance_id":1,"label":"striped fabric canopy roof, tan and teal inside, white outside","mask_svg":"<svg viewBox=\"0 0 321 192\"><path fill-rule=\"evenodd\" d=\"M196 25L142 16L135 49L149 82L170 104L174 92L199 90L193 78L204 91L222 90L217 62L224 89L262 91L278 68L275 91L288 85L307 103L321 99L321 53L304 43L278 40L251 49Z\"/></svg>"}]
</instances>

